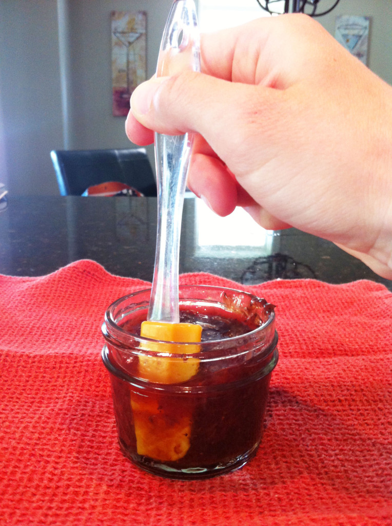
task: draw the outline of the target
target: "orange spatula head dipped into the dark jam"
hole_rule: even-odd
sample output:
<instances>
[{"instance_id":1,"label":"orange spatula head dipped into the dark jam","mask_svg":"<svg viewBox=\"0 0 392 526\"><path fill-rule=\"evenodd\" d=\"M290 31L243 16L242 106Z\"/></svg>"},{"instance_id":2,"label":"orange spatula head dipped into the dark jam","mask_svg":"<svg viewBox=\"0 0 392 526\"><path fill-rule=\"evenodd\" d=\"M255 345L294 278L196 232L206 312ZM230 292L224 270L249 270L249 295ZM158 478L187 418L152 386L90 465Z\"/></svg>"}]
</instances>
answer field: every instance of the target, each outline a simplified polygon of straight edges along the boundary
<instances>
[{"instance_id":1,"label":"orange spatula head dipped into the dark jam","mask_svg":"<svg viewBox=\"0 0 392 526\"><path fill-rule=\"evenodd\" d=\"M202 327L193 323L143 321L140 335L157 342L143 343L143 350L195 354L200 351ZM174 343L176 342L176 343ZM181 343L194 343L183 346ZM181 383L192 378L199 360L161 356L139 356L139 376L153 383ZM132 393L131 407L135 425L137 452L161 462L176 461L190 447L192 413L189 408L162 407L160 395Z\"/></svg>"}]
</instances>

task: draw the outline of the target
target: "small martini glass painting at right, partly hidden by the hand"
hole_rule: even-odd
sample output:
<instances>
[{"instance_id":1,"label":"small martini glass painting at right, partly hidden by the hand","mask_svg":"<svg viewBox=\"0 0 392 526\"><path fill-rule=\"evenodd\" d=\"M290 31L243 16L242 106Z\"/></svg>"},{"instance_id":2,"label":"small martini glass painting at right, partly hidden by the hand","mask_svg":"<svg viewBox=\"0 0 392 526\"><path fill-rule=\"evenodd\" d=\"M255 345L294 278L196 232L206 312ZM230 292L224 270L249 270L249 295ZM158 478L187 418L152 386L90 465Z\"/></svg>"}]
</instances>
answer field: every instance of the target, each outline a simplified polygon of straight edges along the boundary
<instances>
[{"instance_id":1,"label":"small martini glass painting at right, partly hidden by the hand","mask_svg":"<svg viewBox=\"0 0 392 526\"><path fill-rule=\"evenodd\" d=\"M367 45L369 38L368 16L337 16L335 38L349 52L367 64Z\"/></svg>"}]
</instances>

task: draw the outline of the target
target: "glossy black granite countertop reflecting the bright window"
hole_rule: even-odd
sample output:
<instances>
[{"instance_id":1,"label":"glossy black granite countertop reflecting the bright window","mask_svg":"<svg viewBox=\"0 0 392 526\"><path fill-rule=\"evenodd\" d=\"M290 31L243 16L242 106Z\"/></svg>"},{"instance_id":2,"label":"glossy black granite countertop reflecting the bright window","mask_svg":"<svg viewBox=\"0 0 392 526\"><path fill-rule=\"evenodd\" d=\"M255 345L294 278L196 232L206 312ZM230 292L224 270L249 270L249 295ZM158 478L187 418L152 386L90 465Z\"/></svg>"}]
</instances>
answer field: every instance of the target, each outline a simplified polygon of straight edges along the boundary
<instances>
[{"instance_id":1,"label":"glossy black granite countertop reflecting the bright window","mask_svg":"<svg viewBox=\"0 0 392 526\"><path fill-rule=\"evenodd\" d=\"M112 274L151 281L156 229L152 197L8 197L0 211L0 274L41 276L93 259ZM188 198L180 273L199 271L245 285L276 278L370 279L392 290L391 281L329 241L295 229L263 230L243 210L219 218Z\"/></svg>"}]
</instances>

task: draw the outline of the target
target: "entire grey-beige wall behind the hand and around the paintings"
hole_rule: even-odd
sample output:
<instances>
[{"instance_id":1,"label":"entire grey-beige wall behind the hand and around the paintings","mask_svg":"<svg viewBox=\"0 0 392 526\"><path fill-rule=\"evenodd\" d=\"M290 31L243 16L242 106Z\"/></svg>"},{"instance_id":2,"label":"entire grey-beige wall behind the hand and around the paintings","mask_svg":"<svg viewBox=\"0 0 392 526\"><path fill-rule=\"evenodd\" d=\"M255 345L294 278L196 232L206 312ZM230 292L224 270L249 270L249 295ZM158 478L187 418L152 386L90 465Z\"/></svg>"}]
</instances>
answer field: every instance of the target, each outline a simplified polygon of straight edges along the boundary
<instances>
[{"instance_id":1,"label":"entire grey-beige wall behind the hand and around the paintings","mask_svg":"<svg viewBox=\"0 0 392 526\"><path fill-rule=\"evenodd\" d=\"M129 146L111 114L110 12L147 11L152 75L171 2L0 0L0 182L11 194L58 194L51 149ZM392 2L341 0L318 21L334 34L338 14L372 17L369 67L392 84Z\"/></svg>"}]
</instances>

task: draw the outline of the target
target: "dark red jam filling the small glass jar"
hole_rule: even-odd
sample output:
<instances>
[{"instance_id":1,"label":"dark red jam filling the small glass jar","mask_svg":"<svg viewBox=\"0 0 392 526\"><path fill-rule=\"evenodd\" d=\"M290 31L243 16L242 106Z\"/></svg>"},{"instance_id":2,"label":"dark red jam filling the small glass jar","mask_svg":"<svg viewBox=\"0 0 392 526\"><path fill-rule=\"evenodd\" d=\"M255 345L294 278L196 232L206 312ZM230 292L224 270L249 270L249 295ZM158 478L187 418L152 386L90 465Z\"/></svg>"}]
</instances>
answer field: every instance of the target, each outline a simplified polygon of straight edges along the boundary
<instances>
[{"instance_id":1,"label":"dark red jam filling the small glass jar","mask_svg":"<svg viewBox=\"0 0 392 526\"><path fill-rule=\"evenodd\" d=\"M122 328L140 333L141 321L134 318ZM218 341L246 335L263 320L182 311L181 321L202 325L202 341ZM186 382L163 385L137 378L137 356L114 365L115 351L108 345L103 358L112 373L122 452L147 471L178 479L207 478L243 466L261 441L275 346L276 339L267 352L244 346L242 358L223 367L219 360L201 360Z\"/></svg>"}]
</instances>

